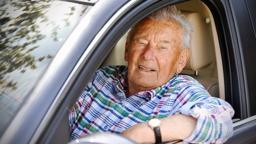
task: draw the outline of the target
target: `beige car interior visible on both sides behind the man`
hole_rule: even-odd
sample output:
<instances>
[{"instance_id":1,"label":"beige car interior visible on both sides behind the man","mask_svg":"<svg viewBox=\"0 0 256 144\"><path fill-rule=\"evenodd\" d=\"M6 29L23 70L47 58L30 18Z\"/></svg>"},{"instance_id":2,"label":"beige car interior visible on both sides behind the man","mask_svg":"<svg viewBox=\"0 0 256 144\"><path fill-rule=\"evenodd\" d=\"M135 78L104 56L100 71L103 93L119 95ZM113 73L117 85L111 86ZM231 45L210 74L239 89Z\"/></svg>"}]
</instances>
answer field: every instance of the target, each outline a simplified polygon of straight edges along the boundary
<instances>
[{"instance_id":1,"label":"beige car interior visible on both sides behind the man","mask_svg":"<svg viewBox=\"0 0 256 144\"><path fill-rule=\"evenodd\" d=\"M223 68L217 31L209 8L200 1L188 1L176 8L189 19L193 26L189 60L182 75L198 80L213 97L225 100ZM124 61L126 34L112 49L103 66L127 65Z\"/></svg>"}]
</instances>

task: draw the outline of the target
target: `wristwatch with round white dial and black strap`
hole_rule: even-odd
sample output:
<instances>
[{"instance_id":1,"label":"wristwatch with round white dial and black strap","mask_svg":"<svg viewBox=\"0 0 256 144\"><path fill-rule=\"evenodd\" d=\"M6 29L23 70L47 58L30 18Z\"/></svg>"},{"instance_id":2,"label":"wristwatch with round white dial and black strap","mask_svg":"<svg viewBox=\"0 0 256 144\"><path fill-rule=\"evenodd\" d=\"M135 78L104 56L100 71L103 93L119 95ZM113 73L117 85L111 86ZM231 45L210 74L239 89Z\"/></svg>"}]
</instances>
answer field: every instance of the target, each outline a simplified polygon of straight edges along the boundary
<instances>
[{"instance_id":1,"label":"wristwatch with round white dial and black strap","mask_svg":"<svg viewBox=\"0 0 256 144\"><path fill-rule=\"evenodd\" d=\"M160 133L160 124L161 124L161 121L157 118L152 118L148 121L148 126L151 127L155 133L155 138L156 138L155 144L162 143L162 137Z\"/></svg>"}]
</instances>

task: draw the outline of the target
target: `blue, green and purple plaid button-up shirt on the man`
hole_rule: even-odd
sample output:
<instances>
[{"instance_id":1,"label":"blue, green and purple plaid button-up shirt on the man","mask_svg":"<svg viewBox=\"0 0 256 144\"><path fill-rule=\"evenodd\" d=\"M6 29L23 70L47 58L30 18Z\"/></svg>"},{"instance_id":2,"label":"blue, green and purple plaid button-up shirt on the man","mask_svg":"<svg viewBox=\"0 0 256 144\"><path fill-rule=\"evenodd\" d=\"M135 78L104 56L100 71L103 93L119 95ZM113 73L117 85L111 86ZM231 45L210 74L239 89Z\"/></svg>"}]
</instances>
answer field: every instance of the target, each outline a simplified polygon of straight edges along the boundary
<instances>
[{"instance_id":1,"label":"blue, green and purple plaid button-up shirt on the man","mask_svg":"<svg viewBox=\"0 0 256 144\"><path fill-rule=\"evenodd\" d=\"M99 69L69 114L71 139L95 132L120 133L151 118L190 115L197 126L184 143L223 143L233 134L234 110L229 103L211 97L203 86L185 75L165 85L126 98L127 67Z\"/></svg>"}]
</instances>

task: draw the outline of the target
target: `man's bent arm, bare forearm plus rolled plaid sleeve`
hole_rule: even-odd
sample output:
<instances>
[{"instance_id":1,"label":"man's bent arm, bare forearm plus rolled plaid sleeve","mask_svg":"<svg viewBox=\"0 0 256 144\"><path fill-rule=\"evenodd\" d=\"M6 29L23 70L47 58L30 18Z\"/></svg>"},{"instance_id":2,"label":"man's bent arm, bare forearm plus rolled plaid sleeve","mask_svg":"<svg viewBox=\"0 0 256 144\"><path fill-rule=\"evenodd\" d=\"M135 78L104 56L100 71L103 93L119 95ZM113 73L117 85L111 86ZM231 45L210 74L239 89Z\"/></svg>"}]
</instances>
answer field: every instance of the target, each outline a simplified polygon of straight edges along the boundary
<instances>
[{"instance_id":1,"label":"man's bent arm, bare forearm plus rolled plaid sleeve","mask_svg":"<svg viewBox=\"0 0 256 144\"><path fill-rule=\"evenodd\" d=\"M173 116L161 119L162 141L224 143L233 134L233 115L231 105L219 98L187 102ZM147 123L134 125L121 134L139 143L154 143L154 131Z\"/></svg>"}]
</instances>

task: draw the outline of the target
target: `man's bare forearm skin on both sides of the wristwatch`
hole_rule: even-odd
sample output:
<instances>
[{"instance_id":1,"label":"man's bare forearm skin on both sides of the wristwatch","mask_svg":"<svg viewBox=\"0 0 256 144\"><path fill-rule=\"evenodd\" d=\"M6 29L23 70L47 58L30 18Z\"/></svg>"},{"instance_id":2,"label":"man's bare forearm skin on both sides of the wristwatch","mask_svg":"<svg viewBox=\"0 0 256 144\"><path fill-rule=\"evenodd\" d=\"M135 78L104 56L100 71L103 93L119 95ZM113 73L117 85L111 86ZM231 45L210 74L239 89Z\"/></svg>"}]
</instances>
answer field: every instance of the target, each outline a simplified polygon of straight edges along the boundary
<instances>
[{"instance_id":1,"label":"man's bare forearm skin on both sides of the wristwatch","mask_svg":"<svg viewBox=\"0 0 256 144\"><path fill-rule=\"evenodd\" d=\"M189 137L196 128L197 120L191 116L176 114L161 118L160 131L163 142L182 140ZM138 143L155 143L155 134L148 122L136 124L122 133Z\"/></svg>"}]
</instances>

